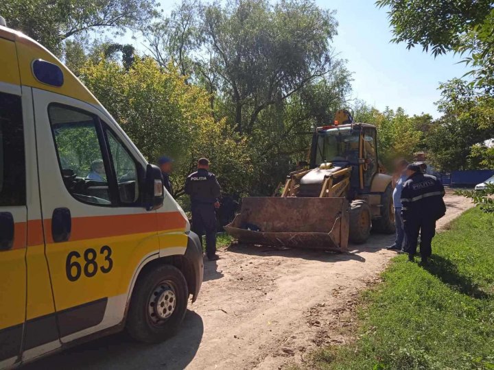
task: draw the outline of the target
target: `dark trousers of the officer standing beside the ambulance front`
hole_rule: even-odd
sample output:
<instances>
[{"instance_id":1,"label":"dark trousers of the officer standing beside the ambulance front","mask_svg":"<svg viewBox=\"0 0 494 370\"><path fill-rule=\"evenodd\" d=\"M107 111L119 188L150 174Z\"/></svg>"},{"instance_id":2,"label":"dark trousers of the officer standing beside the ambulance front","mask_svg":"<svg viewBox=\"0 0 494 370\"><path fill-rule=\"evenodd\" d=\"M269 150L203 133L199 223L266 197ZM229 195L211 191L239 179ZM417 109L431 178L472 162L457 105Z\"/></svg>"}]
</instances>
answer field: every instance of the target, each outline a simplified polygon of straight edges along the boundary
<instances>
[{"instance_id":1,"label":"dark trousers of the officer standing beside the ambulance front","mask_svg":"<svg viewBox=\"0 0 494 370\"><path fill-rule=\"evenodd\" d=\"M201 244L206 234L206 254L216 254L216 214L213 204L192 204L192 231L198 234Z\"/></svg>"}]
</instances>

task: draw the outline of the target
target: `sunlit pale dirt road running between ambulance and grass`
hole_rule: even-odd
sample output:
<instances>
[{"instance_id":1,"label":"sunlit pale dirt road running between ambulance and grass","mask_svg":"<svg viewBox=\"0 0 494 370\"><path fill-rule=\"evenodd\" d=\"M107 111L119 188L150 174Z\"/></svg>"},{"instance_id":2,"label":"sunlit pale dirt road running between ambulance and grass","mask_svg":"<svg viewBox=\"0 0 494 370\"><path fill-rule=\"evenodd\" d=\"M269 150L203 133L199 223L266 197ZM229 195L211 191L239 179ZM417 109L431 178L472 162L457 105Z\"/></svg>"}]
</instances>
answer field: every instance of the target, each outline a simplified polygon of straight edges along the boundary
<instances>
[{"instance_id":1,"label":"sunlit pale dirt road running between ambulance and grass","mask_svg":"<svg viewBox=\"0 0 494 370\"><path fill-rule=\"evenodd\" d=\"M447 193L444 227L469 200ZM32 369L278 369L309 349L342 343L340 328L358 291L395 252L393 236L373 235L349 254L233 245L205 262L204 284L184 328L159 345L123 334L45 358Z\"/></svg>"}]
</instances>

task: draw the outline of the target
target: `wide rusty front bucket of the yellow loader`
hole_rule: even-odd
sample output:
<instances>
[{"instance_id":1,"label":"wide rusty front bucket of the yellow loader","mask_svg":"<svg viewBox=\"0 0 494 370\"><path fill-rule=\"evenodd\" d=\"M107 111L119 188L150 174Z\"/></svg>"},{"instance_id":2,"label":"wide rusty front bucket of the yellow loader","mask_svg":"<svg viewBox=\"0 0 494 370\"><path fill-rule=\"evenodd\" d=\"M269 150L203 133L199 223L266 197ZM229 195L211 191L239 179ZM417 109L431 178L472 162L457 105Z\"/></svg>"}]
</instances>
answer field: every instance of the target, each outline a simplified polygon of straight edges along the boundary
<instances>
[{"instance_id":1,"label":"wide rusty front bucket of the yellow loader","mask_svg":"<svg viewBox=\"0 0 494 370\"><path fill-rule=\"evenodd\" d=\"M345 198L249 197L224 227L240 243L343 252L348 247Z\"/></svg>"}]
</instances>

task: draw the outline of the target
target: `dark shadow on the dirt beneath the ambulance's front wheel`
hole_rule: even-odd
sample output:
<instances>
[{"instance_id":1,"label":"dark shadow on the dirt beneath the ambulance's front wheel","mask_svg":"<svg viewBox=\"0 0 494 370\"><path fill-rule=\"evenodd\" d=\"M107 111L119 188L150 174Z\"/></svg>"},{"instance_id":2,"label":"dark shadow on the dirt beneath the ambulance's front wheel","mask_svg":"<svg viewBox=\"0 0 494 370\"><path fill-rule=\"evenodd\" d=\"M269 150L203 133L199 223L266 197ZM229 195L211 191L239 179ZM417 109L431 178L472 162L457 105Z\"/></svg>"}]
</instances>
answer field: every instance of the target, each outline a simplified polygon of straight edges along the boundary
<instances>
[{"instance_id":1,"label":"dark shadow on the dirt beneath the ambulance's front wheel","mask_svg":"<svg viewBox=\"0 0 494 370\"><path fill-rule=\"evenodd\" d=\"M203 333L201 317L187 310L178 334L163 343L139 343L125 333L113 334L42 358L22 369L181 370L196 356Z\"/></svg>"}]
</instances>

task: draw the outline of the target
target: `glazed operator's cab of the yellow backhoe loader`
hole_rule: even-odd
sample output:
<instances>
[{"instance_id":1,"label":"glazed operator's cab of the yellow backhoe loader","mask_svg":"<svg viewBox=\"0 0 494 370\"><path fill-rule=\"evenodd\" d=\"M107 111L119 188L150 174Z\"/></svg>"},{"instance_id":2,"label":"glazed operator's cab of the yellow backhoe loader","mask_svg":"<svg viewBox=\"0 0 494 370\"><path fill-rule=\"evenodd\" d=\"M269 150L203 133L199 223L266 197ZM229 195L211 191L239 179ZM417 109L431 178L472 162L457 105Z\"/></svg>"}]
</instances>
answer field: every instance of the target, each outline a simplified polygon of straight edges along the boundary
<instances>
[{"instance_id":1,"label":"glazed operator's cab of the yellow backhoe loader","mask_svg":"<svg viewBox=\"0 0 494 370\"><path fill-rule=\"evenodd\" d=\"M312 138L310 168L328 162L334 167L352 167L351 188L368 193L379 172L375 126L353 123L318 127Z\"/></svg>"}]
</instances>

